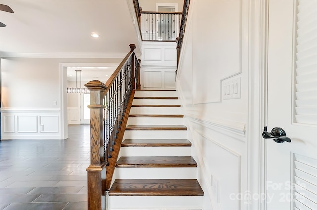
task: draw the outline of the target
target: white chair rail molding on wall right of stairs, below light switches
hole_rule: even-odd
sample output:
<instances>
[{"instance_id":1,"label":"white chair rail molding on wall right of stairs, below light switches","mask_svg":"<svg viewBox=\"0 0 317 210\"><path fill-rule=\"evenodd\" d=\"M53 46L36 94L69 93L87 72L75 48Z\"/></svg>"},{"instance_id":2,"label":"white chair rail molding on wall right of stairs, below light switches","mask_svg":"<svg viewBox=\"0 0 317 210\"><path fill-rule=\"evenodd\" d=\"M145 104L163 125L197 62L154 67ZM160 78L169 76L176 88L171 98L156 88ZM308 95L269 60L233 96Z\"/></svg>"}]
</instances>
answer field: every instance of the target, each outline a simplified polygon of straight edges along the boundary
<instances>
[{"instance_id":1,"label":"white chair rail molding on wall right of stairs, below light switches","mask_svg":"<svg viewBox=\"0 0 317 210\"><path fill-rule=\"evenodd\" d=\"M246 124L243 122L234 122L224 119L200 119L192 114L187 114L186 117L193 123L203 125L211 130L221 132L224 135L245 141Z\"/></svg>"}]
</instances>

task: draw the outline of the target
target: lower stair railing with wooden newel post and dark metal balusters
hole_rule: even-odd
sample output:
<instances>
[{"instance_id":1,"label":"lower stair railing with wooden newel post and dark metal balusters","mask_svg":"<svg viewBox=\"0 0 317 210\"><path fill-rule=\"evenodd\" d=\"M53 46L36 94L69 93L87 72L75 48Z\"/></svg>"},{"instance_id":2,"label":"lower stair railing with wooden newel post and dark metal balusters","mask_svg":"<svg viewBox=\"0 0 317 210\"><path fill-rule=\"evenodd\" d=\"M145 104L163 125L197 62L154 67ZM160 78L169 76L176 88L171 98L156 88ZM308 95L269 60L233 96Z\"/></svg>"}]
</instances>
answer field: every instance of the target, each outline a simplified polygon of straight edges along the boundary
<instances>
[{"instance_id":1,"label":"lower stair railing with wooden newel post and dark metal balusters","mask_svg":"<svg viewBox=\"0 0 317 210\"><path fill-rule=\"evenodd\" d=\"M88 210L101 210L110 187L135 89L140 89L140 60L135 45L111 77L90 81L90 165L87 170Z\"/></svg>"}]
</instances>

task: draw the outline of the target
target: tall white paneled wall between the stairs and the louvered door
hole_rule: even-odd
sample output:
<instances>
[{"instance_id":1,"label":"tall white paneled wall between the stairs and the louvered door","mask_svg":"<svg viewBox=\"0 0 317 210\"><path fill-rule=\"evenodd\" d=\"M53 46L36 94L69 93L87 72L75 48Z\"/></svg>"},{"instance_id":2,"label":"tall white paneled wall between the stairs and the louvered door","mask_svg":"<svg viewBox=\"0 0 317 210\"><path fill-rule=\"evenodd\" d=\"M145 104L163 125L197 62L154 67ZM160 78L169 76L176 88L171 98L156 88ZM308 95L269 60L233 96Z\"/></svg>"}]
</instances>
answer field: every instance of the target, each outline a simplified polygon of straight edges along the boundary
<instances>
[{"instance_id":1,"label":"tall white paneled wall between the stairs and the louvered door","mask_svg":"<svg viewBox=\"0 0 317 210\"><path fill-rule=\"evenodd\" d=\"M250 141L250 5L243 0L191 0L177 72L205 209L246 209ZM252 18L252 16L250 16ZM249 177L250 178L250 177ZM254 201L257 202L257 201Z\"/></svg>"}]
</instances>

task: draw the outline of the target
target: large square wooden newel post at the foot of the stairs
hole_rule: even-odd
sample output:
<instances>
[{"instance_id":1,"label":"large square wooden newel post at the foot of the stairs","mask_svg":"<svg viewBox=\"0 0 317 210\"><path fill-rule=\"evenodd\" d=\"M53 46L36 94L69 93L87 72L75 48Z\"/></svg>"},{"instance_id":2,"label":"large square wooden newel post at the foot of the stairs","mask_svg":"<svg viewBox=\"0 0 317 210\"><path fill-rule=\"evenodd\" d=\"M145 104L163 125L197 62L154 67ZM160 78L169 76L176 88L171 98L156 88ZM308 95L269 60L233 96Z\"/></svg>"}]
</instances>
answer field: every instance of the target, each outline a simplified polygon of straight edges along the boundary
<instances>
[{"instance_id":1,"label":"large square wooden newel post at the foot of the stairs","mask_svg":"<svg viewBox=\"0 0 317 210\"><path fill-rule=\"evenodd\" d=\"M101 164L105 162L103 148L103 92L106 85L98 80L85 86L90 90L90 165L86 169L88 181L88 210L101 210L102 179Z\"/></svg>"}]
</instances>

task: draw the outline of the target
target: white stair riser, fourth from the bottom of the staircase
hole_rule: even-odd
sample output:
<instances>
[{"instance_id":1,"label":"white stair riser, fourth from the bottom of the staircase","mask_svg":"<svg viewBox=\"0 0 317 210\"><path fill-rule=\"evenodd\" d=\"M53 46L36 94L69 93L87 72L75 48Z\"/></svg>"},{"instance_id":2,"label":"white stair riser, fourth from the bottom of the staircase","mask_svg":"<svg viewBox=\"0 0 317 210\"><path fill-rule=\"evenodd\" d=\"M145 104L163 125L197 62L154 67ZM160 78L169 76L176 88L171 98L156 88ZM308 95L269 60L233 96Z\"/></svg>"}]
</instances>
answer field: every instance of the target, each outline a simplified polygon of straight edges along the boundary
<instances>
[{"instance_id":1,"label":"white stair riser, fourth from the bottom of the staircase","mask_svg":"<svg viewBox=\"0 0 317 210\"><path fill-rule=\"evenodd\" d=\"M127 130L123 139L187 139L187 131Z\"/></svg>"}]
</instances>

